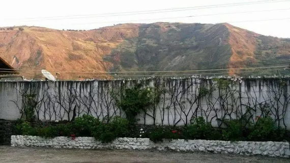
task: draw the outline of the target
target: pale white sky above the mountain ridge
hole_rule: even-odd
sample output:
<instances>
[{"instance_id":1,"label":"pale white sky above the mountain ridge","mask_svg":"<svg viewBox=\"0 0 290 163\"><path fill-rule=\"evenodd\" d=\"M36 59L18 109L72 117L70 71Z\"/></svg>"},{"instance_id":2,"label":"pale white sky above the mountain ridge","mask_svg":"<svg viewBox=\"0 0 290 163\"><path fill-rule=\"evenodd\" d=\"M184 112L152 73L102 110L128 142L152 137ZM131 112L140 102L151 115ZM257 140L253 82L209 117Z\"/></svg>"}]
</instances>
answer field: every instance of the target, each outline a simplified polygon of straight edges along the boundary
<instances>
[{"instance_id":1,"label":"pale white sky above the mountain ridge","mask_svg":"<svg viewBox=\"0 0 290 163\"><path fill-rule=\"evenodd\" d=\"M0 26L34 25L59 30L157 21L228 22L266 36L290 38L290 0L13 0L1 2L0 15Z\"/></svg>"}]
</instances>

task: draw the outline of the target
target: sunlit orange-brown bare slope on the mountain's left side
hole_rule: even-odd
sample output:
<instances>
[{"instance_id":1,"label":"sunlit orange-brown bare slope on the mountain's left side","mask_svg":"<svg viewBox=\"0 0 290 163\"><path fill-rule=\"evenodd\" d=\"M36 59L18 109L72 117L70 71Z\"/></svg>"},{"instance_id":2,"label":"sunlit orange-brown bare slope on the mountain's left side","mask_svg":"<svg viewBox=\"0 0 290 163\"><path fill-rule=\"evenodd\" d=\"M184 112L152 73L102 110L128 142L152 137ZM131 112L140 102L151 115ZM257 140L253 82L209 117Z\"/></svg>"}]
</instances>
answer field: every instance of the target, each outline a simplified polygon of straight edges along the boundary
<instances>
[{"instance_id":1,"label":"sunlit orange-brown bare slope on the mountain's left side","mask_svg":"<svg viewBox=\"0 0 290 163\"><path fill-rule=\"evenodd\" d=\"M97 77L65 71L106 71L103 56L125 38L138 36L138 24L121 24L91 31L56 31L24 27L0 31L0 56L27 78L41 77L41 69L62 72L62 78ZM120 28L114 30L114 28ZM125 30L125 28L132 28ZM110 30L111 29L111 30ZM100 75L100 74L98 74Z\"/></svg>"}]
</instances>

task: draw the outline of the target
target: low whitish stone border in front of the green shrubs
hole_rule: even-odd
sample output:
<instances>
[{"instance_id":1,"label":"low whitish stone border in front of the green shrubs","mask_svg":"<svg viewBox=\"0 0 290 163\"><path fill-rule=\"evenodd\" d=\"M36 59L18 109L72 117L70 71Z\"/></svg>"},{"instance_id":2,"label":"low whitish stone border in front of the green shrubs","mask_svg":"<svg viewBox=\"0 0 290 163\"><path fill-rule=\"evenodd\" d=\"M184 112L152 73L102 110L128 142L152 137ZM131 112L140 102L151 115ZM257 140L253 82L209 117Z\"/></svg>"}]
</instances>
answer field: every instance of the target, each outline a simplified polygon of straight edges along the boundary
<instances>
[{"instance_id":1,"label":"low whitish stone border in front of the green shrubs","mask_svg":"<svg viewBox=\"0 0 290 163\"><path fill-rule=\"evenodd\" d=\"M28 135L12 135L11 146L16 147L52 147L52 148L79 148L79 149L157 149L175 151L204 151L212 153L234 153L245 155L265 155L272 157L290 158L288 142L229 142L206 140L164 140L162 143L153 143L148 138L118 138L111 143L101 143L92 137L76 137L74 140L67 137L42 138Z\"/></svg>"}]
</instances>

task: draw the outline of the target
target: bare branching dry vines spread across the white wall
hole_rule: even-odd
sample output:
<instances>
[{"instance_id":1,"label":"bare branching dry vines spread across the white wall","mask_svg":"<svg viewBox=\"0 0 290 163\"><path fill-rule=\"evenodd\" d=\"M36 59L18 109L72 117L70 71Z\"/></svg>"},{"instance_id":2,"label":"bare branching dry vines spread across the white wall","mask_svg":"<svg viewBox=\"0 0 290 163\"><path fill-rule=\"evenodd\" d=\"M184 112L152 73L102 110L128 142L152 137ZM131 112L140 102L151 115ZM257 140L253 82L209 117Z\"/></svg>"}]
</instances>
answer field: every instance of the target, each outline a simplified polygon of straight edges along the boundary
<instances>
[{"instance_id":1,"label":"bare branching dry vines spread across the white wall","mask_svg":"<svg viewBox=\"0 0 290 163\"><path fill-rule=\"evenodd\" d=\"M136 113L134 118L140 117L143 124L189 125L193 119L202 116L206 123L224 127L227 120L240 120L247 124L254 122L256 116L270 116L279 127L286 128L285 115L290 101L286 79L277 80L275 85L260 79L261 90L255 90L253 86L242 90L242 84L228 79L196 78L62 84L56 83L53 88L40 82L21 85L17 89L17 98L12 100L21 119L73 121L86 114L109 122L115 116ZM136 97L129 97L128 94L134 93ZM140 103L124 103L126 98L136 100L139 97L141 99L137 102ZM133 105L138 108L133 108ZM130 113L126 110L129 108Z\"/></svg>"}]
</instances>

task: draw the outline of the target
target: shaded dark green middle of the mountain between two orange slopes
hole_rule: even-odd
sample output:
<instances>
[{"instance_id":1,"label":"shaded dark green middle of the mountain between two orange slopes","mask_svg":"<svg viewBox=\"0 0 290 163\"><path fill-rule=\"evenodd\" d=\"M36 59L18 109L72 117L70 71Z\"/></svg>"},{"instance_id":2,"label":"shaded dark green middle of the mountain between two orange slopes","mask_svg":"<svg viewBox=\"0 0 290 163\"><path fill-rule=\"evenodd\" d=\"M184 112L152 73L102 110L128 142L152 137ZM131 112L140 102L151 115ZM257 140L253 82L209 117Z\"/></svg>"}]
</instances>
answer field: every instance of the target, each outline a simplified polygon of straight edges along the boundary
<instances>
[{"instance_id":1,"label":"shaded dark green middle of the mountain between two orange slopes","mask_svg":"<svg viewBox=\"0 0 290 163\"><path fill-rule=\"evenodd\" d=\"M168 30L155 28L159 25L168 26ZM120 63L109 60L120 71L224 68L232 55L231 46L224 43L229 32L223 24L170 27L170 23L153 23L142 24L140 28L138 37L126 38L110 54L120 53Z\"/></svg>"}]
</instances>

